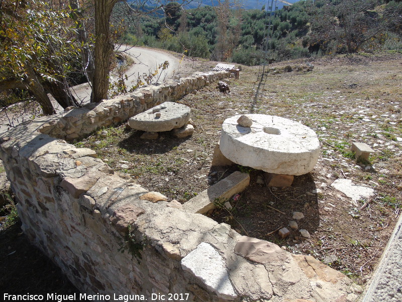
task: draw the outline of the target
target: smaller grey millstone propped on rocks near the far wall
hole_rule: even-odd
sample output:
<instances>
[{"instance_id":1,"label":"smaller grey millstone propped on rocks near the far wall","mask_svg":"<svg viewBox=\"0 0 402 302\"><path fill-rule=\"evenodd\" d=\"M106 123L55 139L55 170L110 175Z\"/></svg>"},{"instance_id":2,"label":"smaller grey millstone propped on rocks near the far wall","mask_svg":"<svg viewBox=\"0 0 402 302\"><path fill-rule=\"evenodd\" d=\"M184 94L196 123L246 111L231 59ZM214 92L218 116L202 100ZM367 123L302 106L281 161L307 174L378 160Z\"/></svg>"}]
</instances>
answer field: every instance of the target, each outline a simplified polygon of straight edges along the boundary
<instances>
[{"instance_id":1,"label":"smaller grey millstone propped on rocks near the far wall","mask_svg":"<svg viewBox=\"0 0 402 302\"><path fill-rule=\"evenodd\" d=\"M163 132L180 128L190 119L190 107L174 102L164 102L129 119L132 129Z\"/></svg>"}]
</instances>

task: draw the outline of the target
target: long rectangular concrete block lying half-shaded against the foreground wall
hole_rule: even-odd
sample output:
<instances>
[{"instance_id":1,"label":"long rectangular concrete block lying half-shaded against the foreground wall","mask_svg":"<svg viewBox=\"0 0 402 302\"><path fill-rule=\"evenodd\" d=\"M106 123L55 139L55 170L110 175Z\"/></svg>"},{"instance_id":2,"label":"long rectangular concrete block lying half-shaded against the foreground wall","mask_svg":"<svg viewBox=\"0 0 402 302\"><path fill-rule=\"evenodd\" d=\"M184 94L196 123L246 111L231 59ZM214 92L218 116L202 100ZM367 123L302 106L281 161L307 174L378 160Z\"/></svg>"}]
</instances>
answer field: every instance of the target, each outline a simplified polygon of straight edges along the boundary
<instances>
[{"instance_id":1,"label":"long rectangular concrete block lying half-shaded against the foreground wall","mask_svg":"<svg viewBox=\"0 0 402 302\"><path fill-rule=\"evenodd\" d=\"M236 171L188 200L183 204L183 209L190 213L205 214L215 208L215 200L225 201L233 195L242 192L247 188L249 183L250 175Z\"/></svg>"}]
</instances>

